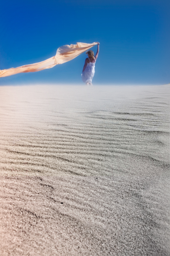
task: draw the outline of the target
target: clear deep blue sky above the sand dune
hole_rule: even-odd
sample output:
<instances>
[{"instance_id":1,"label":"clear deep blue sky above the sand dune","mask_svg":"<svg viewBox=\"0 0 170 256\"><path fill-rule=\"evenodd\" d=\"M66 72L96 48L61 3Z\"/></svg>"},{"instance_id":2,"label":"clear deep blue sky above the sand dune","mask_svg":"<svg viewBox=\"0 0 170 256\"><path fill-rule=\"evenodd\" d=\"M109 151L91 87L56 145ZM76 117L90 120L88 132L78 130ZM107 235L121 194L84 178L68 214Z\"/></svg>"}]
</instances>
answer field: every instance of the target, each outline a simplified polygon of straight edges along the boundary
<instances>
[{"instance_id":1,"label":"clear deep blue sky above the sand dune","mask_svg":"<svg viewBox=\"0 0 170 256\"><path fill-rule=\"evenodd\" d=\"M170 83L169 0L1 2L0 69L48 59L64 44L98 41L93 84ZM85 58L2 77L0 84L81 84Z\"/></svg>"}]
</instances>

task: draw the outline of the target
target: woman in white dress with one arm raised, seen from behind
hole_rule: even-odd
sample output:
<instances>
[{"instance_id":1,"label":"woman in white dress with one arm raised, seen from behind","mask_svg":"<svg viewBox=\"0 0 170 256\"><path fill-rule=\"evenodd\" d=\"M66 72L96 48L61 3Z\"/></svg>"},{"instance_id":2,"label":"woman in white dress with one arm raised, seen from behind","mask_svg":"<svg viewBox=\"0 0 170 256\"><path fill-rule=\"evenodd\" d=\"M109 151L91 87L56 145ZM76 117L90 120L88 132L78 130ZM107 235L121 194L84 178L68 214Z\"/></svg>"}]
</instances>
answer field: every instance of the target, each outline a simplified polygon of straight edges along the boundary
<instances>
[{"instance_id":1,"label":"woman in white dress with one arm raised, seen from behind","mask_svg":"<svg viewBox=\"0 0 170 256\"><path fill-rule=\"evenodd\" d=\"M94 52L92 50L89 50L86 52L88 54L88 58L85 59L85 65L83 67L83 71L81 74L82 80L84 83L88 85L92 85L92 79L94 76L94 68L95 68L95 63L99 54L99 42L97 44L97 52L96 55L94 56Z\"/></svg>"}]
</instances>

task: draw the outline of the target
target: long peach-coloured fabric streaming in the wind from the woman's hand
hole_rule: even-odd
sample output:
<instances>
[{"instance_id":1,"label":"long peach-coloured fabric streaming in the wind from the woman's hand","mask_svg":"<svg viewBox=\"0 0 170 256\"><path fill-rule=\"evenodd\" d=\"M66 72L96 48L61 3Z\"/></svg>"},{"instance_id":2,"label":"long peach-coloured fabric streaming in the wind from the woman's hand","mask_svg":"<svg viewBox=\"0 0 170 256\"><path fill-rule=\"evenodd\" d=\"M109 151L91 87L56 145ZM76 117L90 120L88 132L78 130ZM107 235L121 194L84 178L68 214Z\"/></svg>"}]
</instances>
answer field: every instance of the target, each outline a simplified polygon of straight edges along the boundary
<instances>
[{"instance_id":1,"label":"long peach-coloured fabric streaming in the wind from the woman's hand","mask_svg":"<svg viewBox=\"0 0 170 256\"><path fill-rule=\"evenodd\" d=\"M0 70L0 77L11 76L18 73L26 73L26 72L36 72L41 71L46 68L53 68L57 64L63 64L67 61L73 60L82 52L89 50L92 46L97 43L86 44L86 43L77 43L70 45L63 45L57 49L56 55L47 60L24 65L18 68L9 68Z\"/></svg>"}]
</instances>

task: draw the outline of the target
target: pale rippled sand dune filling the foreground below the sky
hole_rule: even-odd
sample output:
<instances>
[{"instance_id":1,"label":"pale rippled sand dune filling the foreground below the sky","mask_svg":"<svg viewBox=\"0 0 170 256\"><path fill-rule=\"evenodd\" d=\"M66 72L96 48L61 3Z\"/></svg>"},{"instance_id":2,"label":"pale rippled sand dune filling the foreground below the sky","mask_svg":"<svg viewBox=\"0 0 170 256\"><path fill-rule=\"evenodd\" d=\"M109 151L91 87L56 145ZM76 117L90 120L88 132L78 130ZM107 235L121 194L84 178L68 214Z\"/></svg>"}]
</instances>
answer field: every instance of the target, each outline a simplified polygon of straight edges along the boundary
<instances>
[{"instance_id":1,"label":"pale rippled sand dune filling the foreground below the sky","mask_svg":"<svg viewBox=\"0 0 170 256\"><path fill-rule=\"evenodd\" d=\"M169 255L169 86L0 87L0 255Z\"/></svg>"}]
</instances>

